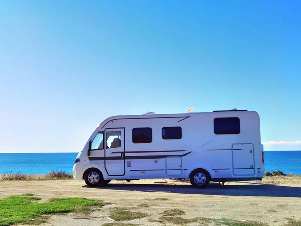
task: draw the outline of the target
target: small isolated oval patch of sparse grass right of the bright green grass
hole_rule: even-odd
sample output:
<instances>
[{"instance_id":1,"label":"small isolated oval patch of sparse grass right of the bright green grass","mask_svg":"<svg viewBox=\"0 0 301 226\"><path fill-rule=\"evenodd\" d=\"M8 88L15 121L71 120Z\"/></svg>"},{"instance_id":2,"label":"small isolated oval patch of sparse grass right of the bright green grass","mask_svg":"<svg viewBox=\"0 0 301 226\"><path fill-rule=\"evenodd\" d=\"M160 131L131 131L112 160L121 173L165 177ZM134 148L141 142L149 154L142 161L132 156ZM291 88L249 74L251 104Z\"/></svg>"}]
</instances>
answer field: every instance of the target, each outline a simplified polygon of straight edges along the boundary
<instances>
[{"instance_id":1,"label":"small isolated oval patch of sparse grass right of the bright green grass","mask_svg":"<svg viewBox=\"0 0 301 226\"><path fill-rule=\"evenodd\" d=\"M132 211L125 210L124 208L120 208L120 207L111 208L109 210L109 213L110 213L110 215L109 215L110 218L112 218L114 220L118 220L118 221L121 221L121 220L128 221L128 220L140 219L140 218L148 216L145 213L132 212Z\"/></svg>"}]
</instances>

